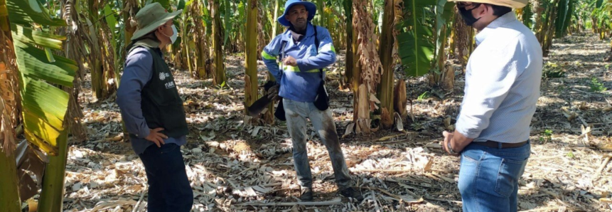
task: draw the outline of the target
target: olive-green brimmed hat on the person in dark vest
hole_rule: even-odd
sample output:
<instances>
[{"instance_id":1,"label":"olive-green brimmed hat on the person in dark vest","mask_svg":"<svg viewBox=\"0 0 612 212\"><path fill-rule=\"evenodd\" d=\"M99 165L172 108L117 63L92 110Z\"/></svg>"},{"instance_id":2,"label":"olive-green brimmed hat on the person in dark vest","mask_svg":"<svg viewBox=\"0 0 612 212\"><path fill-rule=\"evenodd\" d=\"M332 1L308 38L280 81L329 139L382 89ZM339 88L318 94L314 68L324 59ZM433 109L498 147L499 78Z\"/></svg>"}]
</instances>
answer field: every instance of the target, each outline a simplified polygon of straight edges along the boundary
<instances>
[{"instance_id":1,"label":"olive-green brimmed hat on the person in dark vest","mask_svg":"<svg viewBox=\"0 0 612 212\"><path fill-rule=\"evenodd\" d=\"M166 21L172 20L182 12L183 10L179 9L178 11L168 13L168 11L163 9L163 6L157 2L147 4L140 9L140 11L138 11L138 14L136 14L136 23L138 23L138 26L136 27L136 32L134 32L134 36L131 37L131 40L134 41L152 31L155 31L159 26L166 23Z\"/></svg>"}]
</instances>

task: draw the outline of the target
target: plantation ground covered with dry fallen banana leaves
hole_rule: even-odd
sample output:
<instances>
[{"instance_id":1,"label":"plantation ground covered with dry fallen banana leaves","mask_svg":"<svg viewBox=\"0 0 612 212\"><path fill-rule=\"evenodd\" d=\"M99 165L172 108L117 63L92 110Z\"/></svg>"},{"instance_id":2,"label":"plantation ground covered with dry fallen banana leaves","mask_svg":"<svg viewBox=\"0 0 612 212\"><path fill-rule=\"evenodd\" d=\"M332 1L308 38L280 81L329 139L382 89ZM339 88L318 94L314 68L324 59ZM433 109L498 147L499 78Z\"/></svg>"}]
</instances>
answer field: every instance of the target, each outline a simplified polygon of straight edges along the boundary
<instances>
[{"instance_id":1,"label":"plantation ground covered with dry fallen banana leaves","mask_svg":"<svg viewBox=\"0 0 612 212\"><path fill-rule=\"evenodd\" d=\"M532 121L532 155L519 182L520 211L612 210L612 67L603 62L611 54L608 43L590 34L568 36L556 41L545 58L545 71L563 76L542 81ZM190 124L182 151L194 211L461 211L459 159L446 156L438 144L444 120L458 112L461 70L450 93L431 90L424 78L408 80L414 122L404 124L406 132L380 130L341 140L365 201L341 198L340 204L318 207L241 205L296 202L299 196L286 125L245 124L242 61L239 55L227 56L231 88L225 90L211 88L210 80L190 79L186 71L174 72ZM329 88L338 88L340 67L341 56L331 68ZM122 141L119 108L114 100L92 102L89 86L84 87L80 102L90 139L70 146L65 211L144 211L146 175L129 142ZM342 135L352 120L352 94L330 90ZM590 125L590 133L581 125ZM316 201L335 203L340 196L326 149L312 129L308 134ZM431 167L424 169L427 161Z\"/></svg>"}]
</instances>

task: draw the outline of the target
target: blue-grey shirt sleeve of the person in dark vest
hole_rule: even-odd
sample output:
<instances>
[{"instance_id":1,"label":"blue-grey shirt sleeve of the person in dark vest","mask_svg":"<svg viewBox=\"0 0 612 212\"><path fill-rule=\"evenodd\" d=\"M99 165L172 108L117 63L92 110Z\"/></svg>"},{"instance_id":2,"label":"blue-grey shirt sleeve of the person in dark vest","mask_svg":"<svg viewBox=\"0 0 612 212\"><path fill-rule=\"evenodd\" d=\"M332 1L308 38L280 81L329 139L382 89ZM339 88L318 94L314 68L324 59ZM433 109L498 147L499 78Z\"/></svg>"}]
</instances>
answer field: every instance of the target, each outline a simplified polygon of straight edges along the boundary
<instances>
[{"instance_id":1,"label":"blue-grey shirt sleeve of the person in dark vest","mask_svg":"<svg viewBox=\"0 0 612 212\"><path fill-rule=\"evenodd\" d=\"M138 138L149 136L149 126L142 115L141 91L153 75L153 58L145 48L137 48L127 57L121 85L117 90L117 105L127 132Z\"/></svg>"}]
</instances>

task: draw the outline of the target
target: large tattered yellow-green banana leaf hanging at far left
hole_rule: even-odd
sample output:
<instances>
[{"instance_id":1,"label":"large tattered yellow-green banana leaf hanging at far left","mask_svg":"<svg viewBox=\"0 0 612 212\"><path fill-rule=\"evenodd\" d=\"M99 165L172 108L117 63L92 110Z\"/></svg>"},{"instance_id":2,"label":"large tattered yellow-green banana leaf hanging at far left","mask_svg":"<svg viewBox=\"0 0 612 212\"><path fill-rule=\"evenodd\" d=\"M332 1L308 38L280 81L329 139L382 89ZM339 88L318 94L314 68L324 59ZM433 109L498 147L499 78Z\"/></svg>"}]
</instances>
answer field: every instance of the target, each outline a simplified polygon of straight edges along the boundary
<instances>
[{"instance_id":1,"label":"large tattered yellow-green banana leaf hanging at far left","mask_svg":"<svg viewBox=\"0 0 612 212\"><path fill-rule=\"evenodd\" d=\"M65 22L49 18L36 0L8 0L6 4L20 73L26 138L48 154L56 155L58 144L66 142L59 138L65 133L63 120L68 108L68 93L56 85L73 86L77 63L50 54L50 49L62 50L65 37L35 30L31 24L65 26Z\"/></svg>"}]
</instances>

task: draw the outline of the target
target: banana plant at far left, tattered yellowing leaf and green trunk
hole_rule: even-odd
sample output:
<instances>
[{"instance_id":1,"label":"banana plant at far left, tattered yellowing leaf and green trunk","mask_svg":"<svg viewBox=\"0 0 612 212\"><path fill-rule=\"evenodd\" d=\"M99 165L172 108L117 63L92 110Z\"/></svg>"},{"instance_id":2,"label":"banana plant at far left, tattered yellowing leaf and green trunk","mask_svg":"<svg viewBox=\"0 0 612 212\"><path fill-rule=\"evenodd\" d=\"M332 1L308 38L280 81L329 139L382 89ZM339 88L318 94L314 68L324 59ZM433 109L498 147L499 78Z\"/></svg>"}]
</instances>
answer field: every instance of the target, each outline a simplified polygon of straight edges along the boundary
<instances>
[{"instance_id":1,"label":"banana plant at far left, tattered yellowing leaf and green trunk","mask_svg":"<svg viewBox=\"0 0 612 212\"><path fill-rule=\"evenodd\" d=\"M0 2L0 8L1 3L4 2ZM58 87L73 86L78 66L74 60L51 53L52 50L63 50L64 36L41 30L66 26L64 20L51 18L47 9L36 0L6 0L6 9L7 13L0 13L0 16L4 16L4 20L8 16L10 20L12 41L9 42L14 44L14 55L8 57L17 63L24 134L28 142L50 156L38 211L62 211L68 153L68 129L64 126L64 117L69 95ZM0 171L4 173L5 170ZM0 184L2 187L14 186L10 185L11 181L1 181Z\"/></svg>"}]
</instances>

